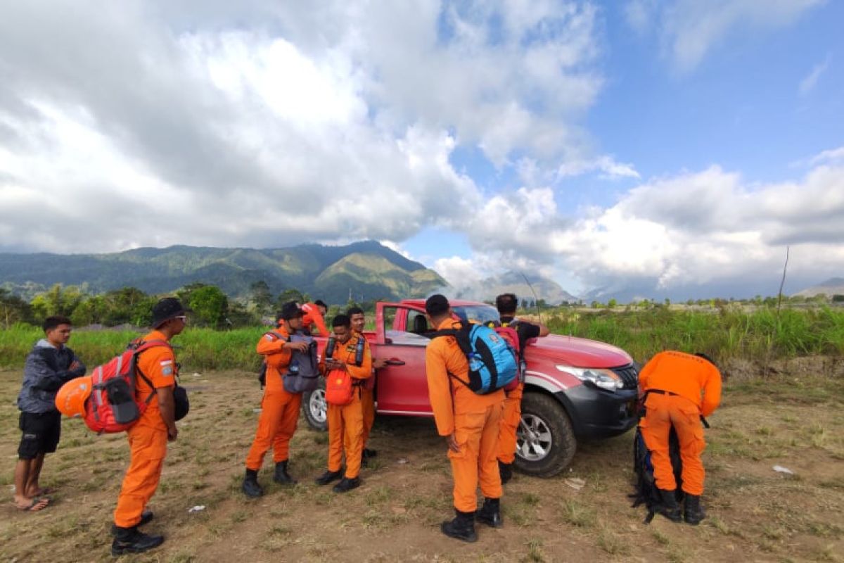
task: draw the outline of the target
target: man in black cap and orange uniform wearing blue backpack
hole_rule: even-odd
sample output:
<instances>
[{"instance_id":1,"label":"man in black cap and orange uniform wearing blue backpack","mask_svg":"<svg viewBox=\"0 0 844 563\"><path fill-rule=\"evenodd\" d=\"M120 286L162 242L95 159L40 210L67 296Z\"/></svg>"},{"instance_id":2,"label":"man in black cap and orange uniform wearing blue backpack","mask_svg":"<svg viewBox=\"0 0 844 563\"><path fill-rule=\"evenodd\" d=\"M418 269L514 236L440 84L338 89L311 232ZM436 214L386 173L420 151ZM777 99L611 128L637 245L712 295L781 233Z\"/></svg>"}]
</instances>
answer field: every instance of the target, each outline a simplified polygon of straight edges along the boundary
<instances>
[{"instance_id":1,"label":"man in black cap and orange uniform wearing blue backpack","mask_svg":"<svg viewBox=\"0 0 844 563\"><path fill-rule=\"evenodd\" d=\"M431 295L425 301L425 312L437 330L459 328L452 319L452 309L444 295ZM454 478L454 511L456 517L442 522L446 536L473 542L478 539L475 517L493 528L503 525L500 512L501 479L495 454L498 448L498 426L504 409L504 390L477 395L457 379L468 382L466 355L451 336L434 338L425 350L430 406L434 411L436 430L446 436L448 457ZM476 491L484 494L484 506L477 508Z\"/></svg>"}]
</instances>

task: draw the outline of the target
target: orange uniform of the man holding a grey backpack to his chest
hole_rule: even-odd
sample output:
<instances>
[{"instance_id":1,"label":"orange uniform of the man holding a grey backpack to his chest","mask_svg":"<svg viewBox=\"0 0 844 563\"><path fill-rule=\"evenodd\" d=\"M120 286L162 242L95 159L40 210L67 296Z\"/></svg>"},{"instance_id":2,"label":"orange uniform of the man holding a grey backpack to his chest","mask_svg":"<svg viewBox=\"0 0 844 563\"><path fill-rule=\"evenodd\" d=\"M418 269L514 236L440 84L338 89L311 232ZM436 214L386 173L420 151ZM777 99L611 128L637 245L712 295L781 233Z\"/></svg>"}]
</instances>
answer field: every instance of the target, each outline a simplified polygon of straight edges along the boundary
<instances>
[{"instance_id":1,"label":"orange uniform of the man holding a grey backpack to his chest","mask_svg":"<svg viewBox=\"0 0 844 563\"><path fill-rule=\"evenodd\" d=\"M290 439L299 422L302 394L285 391L282 380L292 355L290 350L283 348L288 337L285 328L277 328L272 333L264 334L256 346L257 353L267 361L267 381L264 384L255 440L246 455L246 468L254 471L261 469L264 455L270 447L273 447L273 462L287 461Z\"/></svg>"}]
</instances>

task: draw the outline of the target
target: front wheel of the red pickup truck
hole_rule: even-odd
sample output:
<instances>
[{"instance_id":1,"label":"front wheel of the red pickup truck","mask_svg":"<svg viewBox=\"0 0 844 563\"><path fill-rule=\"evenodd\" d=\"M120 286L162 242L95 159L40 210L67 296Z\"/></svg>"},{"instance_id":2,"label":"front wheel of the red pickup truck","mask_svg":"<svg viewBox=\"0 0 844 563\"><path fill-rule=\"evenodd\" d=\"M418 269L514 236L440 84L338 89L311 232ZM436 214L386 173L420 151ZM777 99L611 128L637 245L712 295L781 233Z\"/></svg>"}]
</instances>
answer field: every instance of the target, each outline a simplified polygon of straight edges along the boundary
<instances>
[{"instance_id":1,"label":"front wheel of the red pickup truck","mask_svg":"<svg viewBox=\"0 0 844 563\"><path fill-rule=\"evenodd\" d=\"M538 392L522 397L516 430L516 468L536 477L553 477L571 463L577 441L571 420L555 398Z\"/></svg>"}]
</instances>

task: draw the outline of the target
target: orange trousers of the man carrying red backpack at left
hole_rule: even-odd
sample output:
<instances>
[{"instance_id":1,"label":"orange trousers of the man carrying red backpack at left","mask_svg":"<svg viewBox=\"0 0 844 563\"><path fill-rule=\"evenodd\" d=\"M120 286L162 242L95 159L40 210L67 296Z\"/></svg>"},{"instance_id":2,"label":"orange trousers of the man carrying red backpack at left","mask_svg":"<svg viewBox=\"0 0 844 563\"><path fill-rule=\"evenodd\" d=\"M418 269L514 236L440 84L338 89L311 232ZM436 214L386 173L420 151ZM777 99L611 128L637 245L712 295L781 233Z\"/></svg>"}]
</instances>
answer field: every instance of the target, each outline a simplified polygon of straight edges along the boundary
<instances>
[{"instance_id":1,"label":"orange trousers of the man carrying red backpack at left","mask_svg":"<svg viewBox=\"0 0 844 563\"><path fill-rule=\"evenodd\" d=\"M159 416L155 413L155 416ZM158 489L161 468L167 456L167 430L158 426L138 424L127 430L132 461L114 511L114 523L121 528L132 528L141 521L141 513Z\"/></svg>"}]
</instances>

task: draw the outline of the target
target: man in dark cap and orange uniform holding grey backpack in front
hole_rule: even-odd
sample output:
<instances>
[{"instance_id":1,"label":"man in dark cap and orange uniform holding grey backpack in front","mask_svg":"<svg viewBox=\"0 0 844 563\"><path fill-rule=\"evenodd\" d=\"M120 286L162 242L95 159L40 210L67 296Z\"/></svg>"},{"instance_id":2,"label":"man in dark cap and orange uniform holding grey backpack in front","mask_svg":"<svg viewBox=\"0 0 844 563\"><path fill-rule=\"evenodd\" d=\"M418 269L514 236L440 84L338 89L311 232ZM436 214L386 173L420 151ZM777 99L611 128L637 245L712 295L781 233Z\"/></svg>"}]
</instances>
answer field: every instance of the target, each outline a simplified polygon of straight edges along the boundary
<instances>
[{"instance_id":1,"label":"man in dark cap and orange uniform holding grey backpack in front","mask_svg":"<svg viewBox=\"0 0 844 563\"><path fill-rule=\"evenodd\" d=\"M301 393L291 393L284 389L284 372L290 363L294 350L306 352L306 342L288 342L291 334L302 328L302 311L295 302L290 301L281 307L279 328L264 334L257 344L257 353L267 361L267 379L261 401L261 415L255 440L246 455L246 476L241 489L246 496L255 498L263 495L258 484L258 471L261 470L264 455L273 447L275 474L273 480L283 485L295 485L295 479L287 473L290 438L296 431L299 421Z\"/></svg>"}]
</instances>

